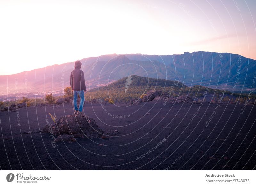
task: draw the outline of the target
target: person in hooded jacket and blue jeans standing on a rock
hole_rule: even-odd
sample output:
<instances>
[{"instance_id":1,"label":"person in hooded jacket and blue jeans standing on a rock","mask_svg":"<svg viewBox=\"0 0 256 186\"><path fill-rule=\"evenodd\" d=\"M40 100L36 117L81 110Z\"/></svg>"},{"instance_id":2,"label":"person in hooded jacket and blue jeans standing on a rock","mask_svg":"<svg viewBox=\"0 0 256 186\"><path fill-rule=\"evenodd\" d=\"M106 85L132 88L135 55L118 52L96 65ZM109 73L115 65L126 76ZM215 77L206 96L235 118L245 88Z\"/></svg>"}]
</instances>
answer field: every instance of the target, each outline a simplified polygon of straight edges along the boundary
<instances>
[{"instance_id":1,"label":"person in hooded jacket and blue jeans standing on a rock","mask_svg":"<svg viewBox=\"0 0 256 186\"><path fill-rule=\"evenodd\" d=\"M85 80L84 80L84 72L80 69L82 63L80 61L75 62L75 69L70 74L70 86L74 91L74 107L75 114L84 115L83 105L84 105L84 92L86 92ZM79 110L77 108L77 95L79 94L81 100L79 105Z\"/></svg>"}]
</instances>

